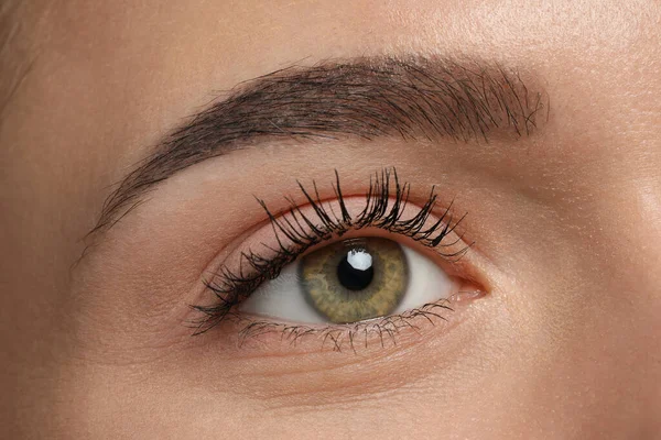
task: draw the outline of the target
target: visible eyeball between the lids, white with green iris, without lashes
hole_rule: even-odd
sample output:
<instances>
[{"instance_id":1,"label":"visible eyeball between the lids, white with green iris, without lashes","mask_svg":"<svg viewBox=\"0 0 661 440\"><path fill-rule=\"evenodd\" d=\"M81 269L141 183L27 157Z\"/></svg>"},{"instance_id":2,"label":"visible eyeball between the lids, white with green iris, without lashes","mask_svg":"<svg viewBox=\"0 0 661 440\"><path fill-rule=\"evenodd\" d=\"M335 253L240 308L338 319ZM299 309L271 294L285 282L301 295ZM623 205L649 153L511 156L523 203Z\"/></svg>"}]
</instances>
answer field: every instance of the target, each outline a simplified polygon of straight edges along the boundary
<instances>
[{"instance_id":1,"label":"visible eyeball between the lids, white with green iris, without lashes","mask_svg":"<svg viewBox=\"0 0 661 440\"><path fill-rule=\"evenodd\" d=\"M240 307L299 323L354 323L449 298L456 283L430 257L384 238L344 240L286 266Z\"/></svg>"}]
</instances>

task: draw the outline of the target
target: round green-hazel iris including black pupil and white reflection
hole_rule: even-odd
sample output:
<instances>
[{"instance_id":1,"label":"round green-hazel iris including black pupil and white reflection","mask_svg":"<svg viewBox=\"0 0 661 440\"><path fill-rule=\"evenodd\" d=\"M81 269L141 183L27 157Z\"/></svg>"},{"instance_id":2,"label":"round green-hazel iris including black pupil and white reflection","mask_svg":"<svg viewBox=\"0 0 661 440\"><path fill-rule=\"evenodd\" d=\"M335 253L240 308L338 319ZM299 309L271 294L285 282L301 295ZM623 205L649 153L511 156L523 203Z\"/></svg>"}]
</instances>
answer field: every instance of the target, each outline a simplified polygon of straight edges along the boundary
<instances>
[{"instance_id":1,"label":"round green-hazel iris including black pupil and white reflection","mask_svg":"<svg viewBox=\"0 0 661 440\"><path fill-rule=\"evenodd\" d=\"M307 301L334 323L392 314L409 283L402 248L379 238L325 246L303 257L300 267Z\"/></svg>"}]
</instances>

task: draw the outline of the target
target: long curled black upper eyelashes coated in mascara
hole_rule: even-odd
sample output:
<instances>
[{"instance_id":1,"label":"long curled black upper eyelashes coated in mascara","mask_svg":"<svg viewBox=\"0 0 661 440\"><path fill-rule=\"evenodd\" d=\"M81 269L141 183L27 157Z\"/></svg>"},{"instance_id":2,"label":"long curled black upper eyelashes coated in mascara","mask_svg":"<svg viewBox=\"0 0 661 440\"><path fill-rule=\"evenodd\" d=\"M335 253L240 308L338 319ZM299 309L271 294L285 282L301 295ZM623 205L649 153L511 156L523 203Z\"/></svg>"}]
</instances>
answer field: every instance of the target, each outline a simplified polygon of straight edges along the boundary
<instances>
[{"instance_id":1,"label":"long curled black upper eyelashes coated in mascara","mask_svg":"<svg viewBox=\"0 0 661 440\"><path fill-rule=\"evenodd\" d=\"M409 237L427 248L449 248L463 240L463 235L459 235L452 243L443 243L443 239L453 232L466 217L464 215L453 223L451 212L453 202L444 209L437 221L425 227L436 206L437 196L434 186L420 211L414 217L402 220L409 202L411 186L409 183L400 183L394 167L381 169L380 173L377 172L370 177L369 189L365 195L365 208L355 217L350 216L346 207L337 170L335 170L335 183L332 187L339 206L339 215L329 204L324 205L316 182L312 183L313 193L305 189L301 182L296 183L318 223L307 218L291 197L285 197L290 208L281 212L282 215L279 217L271 212L263 200L257 198L271 222L278 242L277 249L264 243L262 245L274 252L274 255L263 257L252 251L241 252L238 273L232 273L227 266L221 266L213 280L205 280L206 287L215 294L217 302L212 306L191 306L204 315L202 319L193 322L196 328L194 336L217 326L228 316L232 307L252 294L262 283L277 278L280 272L288 264L294 262L299 255L334 235L342 237L350 230L371 227ZM394 189L393 196L391 196L392 189ZM284 245L282 237L292 244ZM451 261L453 258L456 261L469 248L470 244L452 253L438 253ZM245 271L243 260L249 266L249 272Z\"/></svg>"}]
</instances>

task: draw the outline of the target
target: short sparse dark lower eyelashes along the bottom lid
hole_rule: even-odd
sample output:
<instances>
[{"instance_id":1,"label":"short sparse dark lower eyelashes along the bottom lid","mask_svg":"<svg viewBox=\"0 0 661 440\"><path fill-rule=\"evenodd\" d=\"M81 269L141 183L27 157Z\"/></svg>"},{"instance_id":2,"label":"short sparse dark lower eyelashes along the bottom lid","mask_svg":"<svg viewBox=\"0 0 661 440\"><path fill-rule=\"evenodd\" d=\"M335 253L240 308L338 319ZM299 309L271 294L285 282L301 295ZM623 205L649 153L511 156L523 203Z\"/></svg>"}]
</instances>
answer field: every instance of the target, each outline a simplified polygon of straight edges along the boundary
<instances>
[{"instance_id":1,"label":"short sparse dark lower eyelashes along the bottom lid","mask_svg":"<svg viewBox=\"0 0 661 440\"><path fill-rule=\"evenodd\" d=\"M348 349L356 353L358 349L367 349L369 343L373 342L380 343L381 348L386 348L388 344L397 345L395 338L400 331L420 332L420 327L414 323L419 318L425 319L432 326L438 321L447 321L443 315L454 311L449 305L448 299L441 299L398 315L350 324L325 327L260 320L239 314L228 314L226 319L234 321L240 328L238 330L239 346L252 339L280 333L280 340L289 342L291 345L302 343L306 339L317 339L322 342L322 350L329 348L332 351L342 352Z\"/></svg>"}]
</instances>

